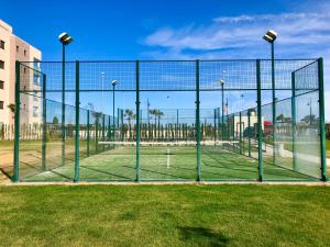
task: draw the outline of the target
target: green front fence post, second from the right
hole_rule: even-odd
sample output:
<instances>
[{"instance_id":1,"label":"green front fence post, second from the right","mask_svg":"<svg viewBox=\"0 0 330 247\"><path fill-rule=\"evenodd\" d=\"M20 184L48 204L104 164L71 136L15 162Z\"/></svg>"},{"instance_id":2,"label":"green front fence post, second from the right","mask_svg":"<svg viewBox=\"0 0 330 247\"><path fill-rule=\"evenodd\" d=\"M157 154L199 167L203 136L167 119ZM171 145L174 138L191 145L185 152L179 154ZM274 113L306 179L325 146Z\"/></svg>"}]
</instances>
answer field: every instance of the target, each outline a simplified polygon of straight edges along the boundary
<instances>
[{"instance_id":1,"label":"green front fence post, second from the right","mask_svg":"<svg viewBox=\"0 0 330 247\"><path fill-rule=\"evenodd\" d=\"M257 171L258 181L263 181L263 123L262 123L262 98L261 98L261 69L260 59L256 60L256 103L257 103Z\"/></svg>"}]
</instances>

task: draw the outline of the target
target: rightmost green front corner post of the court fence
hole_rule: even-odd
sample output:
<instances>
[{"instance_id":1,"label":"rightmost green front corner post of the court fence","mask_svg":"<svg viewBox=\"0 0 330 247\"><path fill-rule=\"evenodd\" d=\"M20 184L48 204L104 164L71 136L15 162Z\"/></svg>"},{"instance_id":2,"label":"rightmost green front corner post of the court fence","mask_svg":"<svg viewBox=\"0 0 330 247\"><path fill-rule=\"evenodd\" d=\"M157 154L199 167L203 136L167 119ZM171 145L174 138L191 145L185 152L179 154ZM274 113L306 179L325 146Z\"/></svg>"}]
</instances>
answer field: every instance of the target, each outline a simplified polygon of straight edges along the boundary
<instances>
[{"instance_id":1,"label":"rightmost green front corner post of the court fence","mask_svg":"<svg viewBox=\"0 0 330 247\"><path fill-rule=\"evenodd\" d=\"M320 148L321 148L321 179L327 181L327 157L326 157L326 124L324 124L324 81L323 58L318 59L319 76L319 115L320 115Z\"/></svg>"}]
</instances>

